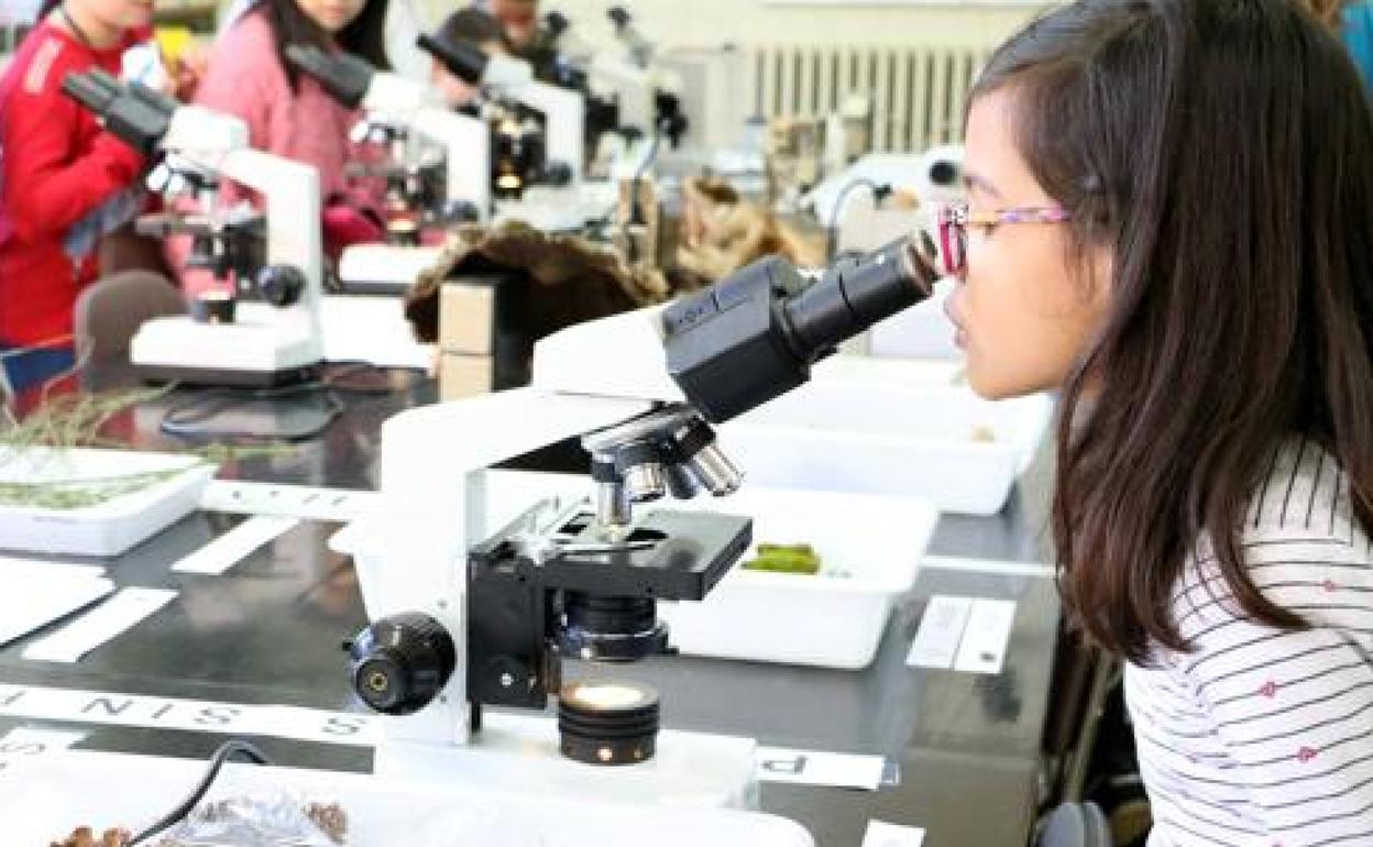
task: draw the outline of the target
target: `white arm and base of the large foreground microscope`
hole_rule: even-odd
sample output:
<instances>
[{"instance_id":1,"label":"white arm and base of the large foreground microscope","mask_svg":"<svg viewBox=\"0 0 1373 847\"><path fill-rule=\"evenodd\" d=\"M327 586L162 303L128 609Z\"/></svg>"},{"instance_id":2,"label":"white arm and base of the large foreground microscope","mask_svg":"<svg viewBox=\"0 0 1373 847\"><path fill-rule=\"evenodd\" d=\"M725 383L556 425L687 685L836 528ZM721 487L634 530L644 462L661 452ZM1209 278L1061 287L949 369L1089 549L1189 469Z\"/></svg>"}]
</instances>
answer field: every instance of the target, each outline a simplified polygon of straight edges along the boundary
<instances>
[{"instance_id":1,"label":"white arm and base of the large foreground microscope","mask_svg":"<svg viewBox=\"0 0 1373 847\"><path fill-rule=\"evenodd\" d=\"M648 323L644 313L636 316ZM662 349L645 354L660 360ZM434 703L384 719L375 758L379 774L508 781L518 791L632 802L755 802L752 740L665 730L649 762L596 767L559 755L556 726L546 717L486 710L481 733L470 734L460 637L467 631L467 550L500 529L485 516L483 468L649 408L648 399L530 387L401 412L382 426L379 555L357 557L364 604L373 620L402 611L428 614L454 634L457 664ZM633 677L632 666L625 673Z\"/></svg>"}]
</instances>

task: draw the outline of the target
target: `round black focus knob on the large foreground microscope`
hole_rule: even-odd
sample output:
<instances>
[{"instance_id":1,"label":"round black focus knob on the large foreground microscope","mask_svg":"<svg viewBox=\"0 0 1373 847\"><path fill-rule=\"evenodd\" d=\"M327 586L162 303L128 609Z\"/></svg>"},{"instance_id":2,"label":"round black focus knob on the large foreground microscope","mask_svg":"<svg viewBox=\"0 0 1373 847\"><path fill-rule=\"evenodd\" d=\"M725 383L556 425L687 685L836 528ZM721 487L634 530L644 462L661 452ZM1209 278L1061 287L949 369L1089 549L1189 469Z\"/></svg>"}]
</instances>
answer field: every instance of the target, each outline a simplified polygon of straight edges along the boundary
<instances>
[{"instance_id":1,"label":"round black focus knob on the large foreground microscope","mask_svg":"<svg viewBox=\"0 0 1373 847\"><path fill-rule=\"evenodd\" d=\"M457 651L438 620L406 612L376 620L347 645L353 689L387 715L428 706L453 675Z\"/></svg>"}]
</instances>

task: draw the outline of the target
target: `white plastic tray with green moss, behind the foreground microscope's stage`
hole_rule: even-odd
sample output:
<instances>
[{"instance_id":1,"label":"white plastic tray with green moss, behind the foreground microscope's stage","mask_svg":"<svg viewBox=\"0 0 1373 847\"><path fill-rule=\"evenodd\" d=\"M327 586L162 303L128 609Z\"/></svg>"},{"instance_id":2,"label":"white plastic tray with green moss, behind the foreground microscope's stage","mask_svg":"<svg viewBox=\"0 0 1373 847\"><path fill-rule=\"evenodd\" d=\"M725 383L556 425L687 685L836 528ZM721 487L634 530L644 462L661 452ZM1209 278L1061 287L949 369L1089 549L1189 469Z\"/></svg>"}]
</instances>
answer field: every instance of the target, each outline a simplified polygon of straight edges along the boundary
<instances>
[{"instance_id":1,"label":"white plastic tray with green moss, behind the foreground microscope's stage","mask_svg":"<svg viewBox=\"0 0 1373 847\"><path fill-rule=\"evenodd\" d=\"M593 496L595 483L567 474L487 471L486 493L489 534L540 498ZM814 577L735 567L702 603L659 603L674 647L688 655L838 669L872 662L892 600L914 583L939 516L928 501L912 497L768 490L747 482L732 497L637 508L746 515L754 519L754 548L744 561L758 544L810 544L824 563ZM376 556L368 526L350 524L331 546ZM373 567L360 563L358 571ZM833 571L847 575L825 575Z\"/></svg>"}]
</instances>

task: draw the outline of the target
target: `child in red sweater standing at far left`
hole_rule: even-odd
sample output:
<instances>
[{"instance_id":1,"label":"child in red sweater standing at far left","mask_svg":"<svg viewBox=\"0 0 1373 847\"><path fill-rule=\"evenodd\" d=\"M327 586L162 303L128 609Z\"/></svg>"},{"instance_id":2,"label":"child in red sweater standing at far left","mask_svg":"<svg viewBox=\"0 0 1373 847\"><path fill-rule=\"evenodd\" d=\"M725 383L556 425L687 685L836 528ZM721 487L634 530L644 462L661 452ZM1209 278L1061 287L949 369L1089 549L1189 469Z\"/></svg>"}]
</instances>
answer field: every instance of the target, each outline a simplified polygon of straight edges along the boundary
<instances>
[{"instance_id":1,"label":"child in red sweater standing at far left","mask_svg":"<svg viewBox=\"0 0 1373 847\"><path fill-rule=\"evenodd\" d=\"M143 158L62 93L69 73L121 73L152 0L49 0L0 77L0 356L18 393L74 362L71 308L100 239L143 203Z\"/></svg>"}]
</instances>

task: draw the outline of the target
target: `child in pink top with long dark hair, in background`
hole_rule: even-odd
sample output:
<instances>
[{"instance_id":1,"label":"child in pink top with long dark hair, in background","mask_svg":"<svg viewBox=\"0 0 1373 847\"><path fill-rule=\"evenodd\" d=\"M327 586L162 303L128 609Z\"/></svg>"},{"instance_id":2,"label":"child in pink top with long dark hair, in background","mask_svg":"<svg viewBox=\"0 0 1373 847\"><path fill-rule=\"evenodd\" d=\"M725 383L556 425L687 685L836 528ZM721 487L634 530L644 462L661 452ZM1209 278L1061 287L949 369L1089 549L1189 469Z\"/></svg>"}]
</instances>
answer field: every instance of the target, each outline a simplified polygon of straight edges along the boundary
<instances>
[{"instance_id":1,"label":"child in pink top with long dark hair, in background","mask_svg":"<svg viewBox=\"0 0 1373 847\"><path fill-rule=\"evenodd\" d=\"M196 103L242 118L253 148L319 170L324 246L335 258L351 243L383 239L382 189L346 178L358 147L349 132L360 114L287 62L286 47L346 51L389 70L386 7L387 0L258 0L216 41L195 95ZM221 185L221 203L243 196L238 185ZM184 268L188 239L169 239L168 247L169 264ZM220 284L205 272L183 273L183 287L192 295Z\"/></svg>"}]
</instances>

